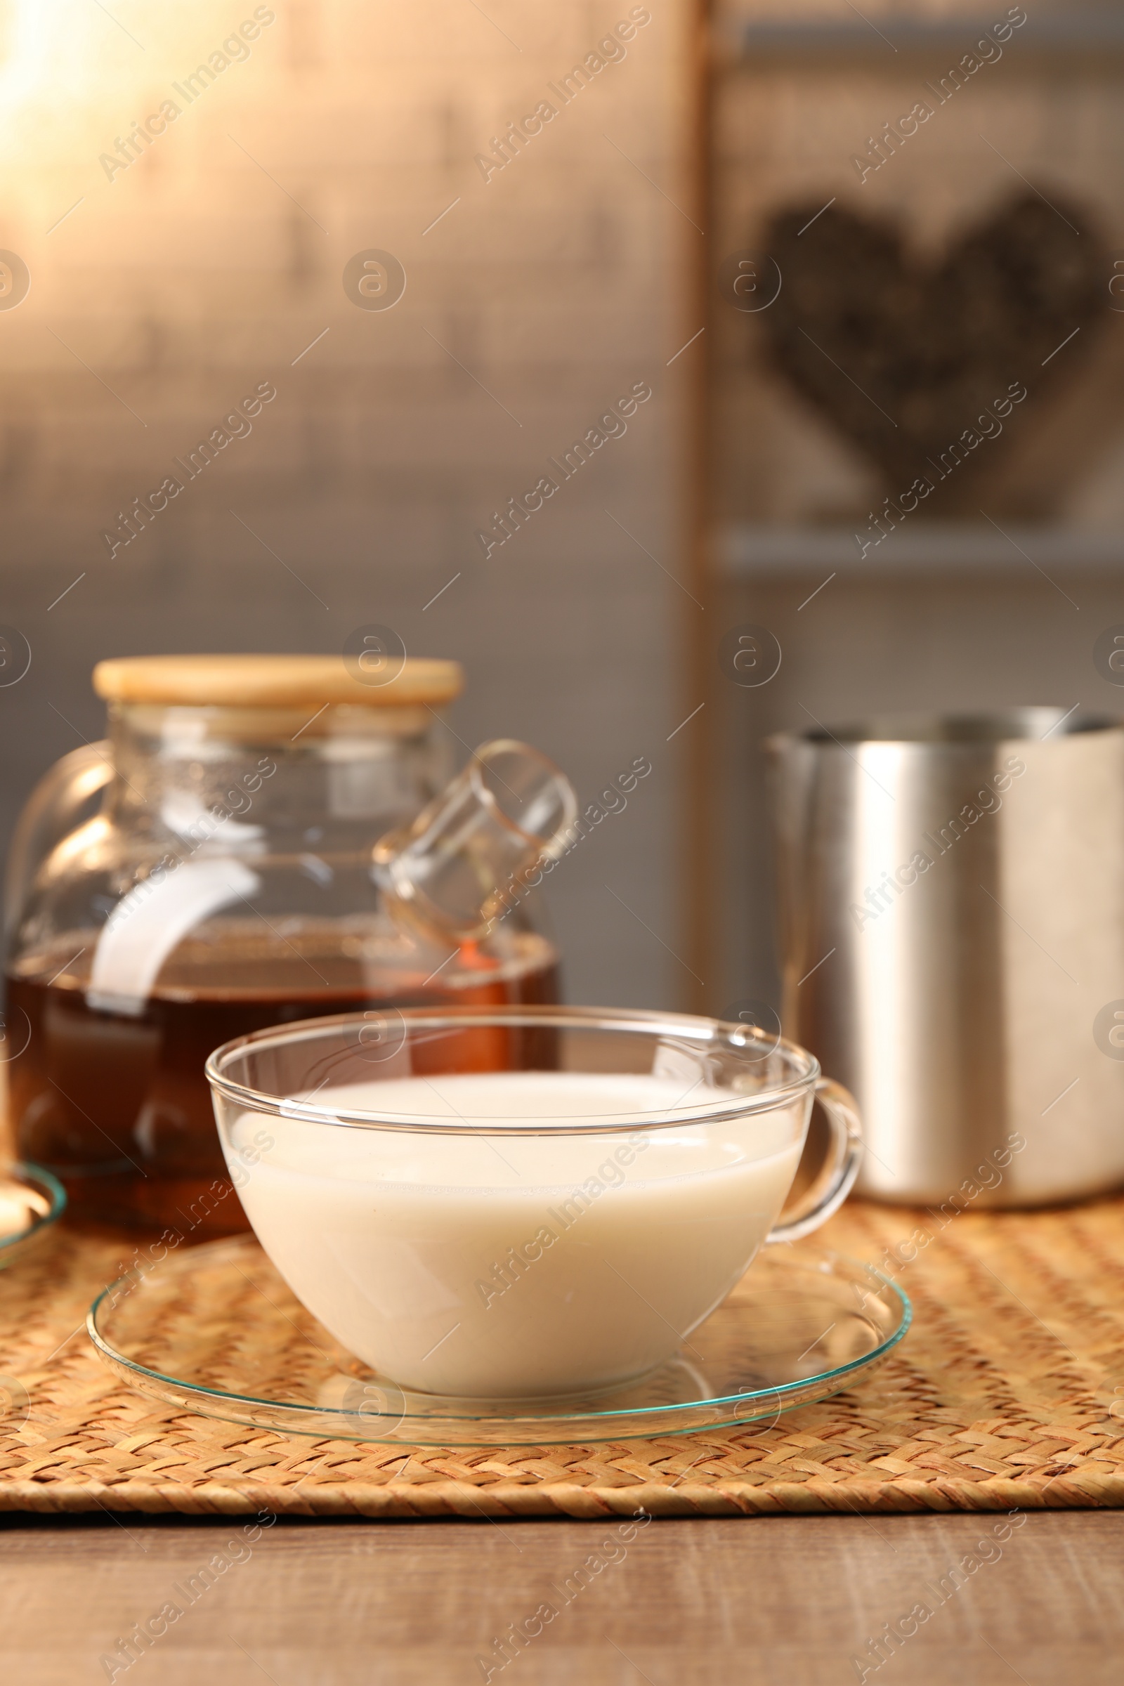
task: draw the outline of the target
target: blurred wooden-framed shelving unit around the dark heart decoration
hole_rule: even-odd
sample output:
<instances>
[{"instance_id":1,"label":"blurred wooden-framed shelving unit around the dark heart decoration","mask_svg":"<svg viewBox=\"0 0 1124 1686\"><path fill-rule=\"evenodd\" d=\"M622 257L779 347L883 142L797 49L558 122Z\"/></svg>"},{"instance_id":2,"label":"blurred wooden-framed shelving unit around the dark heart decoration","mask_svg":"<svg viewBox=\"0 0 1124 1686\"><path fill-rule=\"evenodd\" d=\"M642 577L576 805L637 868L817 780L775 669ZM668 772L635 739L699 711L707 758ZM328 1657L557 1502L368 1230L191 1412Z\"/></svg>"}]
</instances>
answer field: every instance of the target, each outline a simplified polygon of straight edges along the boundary
<instances>
[{"instance_id":1,"label":"blurred wooden-framed shelving unit around the dark heart decoration","mask_svg":"<svg viewBox=\"0 0 1124 1686\"><path fill-rule=\"evenodd\" d=\"M871 212L898 217L903 239L917 234L923 251L935 253L945 229L957 238L993 197L999 202L1006 189L1016 202L1026 179L1038 184L1041 174L1050 199L1048 184L1057 182L1058 192L1065 184L1079 202L1102 206L1112 244L1124 133L1124 0L1021 5L1026 22L999 42L999 66L971 72L967 83L957 79L952 99L942 81L1004 20L1008 0L940 7L881 0L878 10L864 0L696 0L688 211L706 233L693 243L682 339L701 325L706 334L693 364L684 440L691 464L686 583L708 614L684 620L691 661L681 718L688 723L671 749L681 745L684 757L689 828L679 953L698 980L708 980L696 990L701 1012L716 1010L726 996L768 995L775 986L755 755L762 732L806 718L806 706L827 720L1050 695L1065 696L1067 708L1089 695L1089 685L1109 690L1095 673L1090 678L1089 642L1102 631L1100 617L1124 619L1112 609L1124 590L1124 518L1116 519L1111 464L1085 487L1090 454L1077 448L1079 438L1067 440L1068 455L1045 464L1040 479L1028 460L1025 479L1011 482L1041 492L1041 518L1030 513L1030 499L1021 518L1003 514L981 486L977 501L959 506L959 519L952 519L952 502L939 506L942 521L917 511L863 555L856 529L868 531L866 506L854 518L846 513L868 496L854 469L858 447L848 447L841 433L829 454L824 416L800 410L795 393L782 400L789 405L784 425L773 425L775 388L747 357L747 319L735 320L721 288L723 265L752 244L750 229L763 228L780 206L809 201L811 216L832 194L846 196L848 157L868 125L878 133L922 96L930 106L950 99L954 113L964 110L929 125L927 142L895 162L891 180L878 177L886 192L876 194ZM972 91L964 93L966 86ZM979 133L1001 157L988 152ZM858 185L854 170L849 180ZM1109 381L1097 379L1089 393L1095 415L1105 418L1097 435L1116 435L1124 411L1114 408ZM1060 416L1055 425L1062 428ZM846 450L853 479L843 477ZM866 462L863 472L868 479L875 469ZM1053 496L1058 502L1046 504ZM979 513L981 502L1001 531ZM773 619L777 631L787 629L785 663L767 690L735 696L715 661L715 631Z\"/></svg>"}]
</instances>

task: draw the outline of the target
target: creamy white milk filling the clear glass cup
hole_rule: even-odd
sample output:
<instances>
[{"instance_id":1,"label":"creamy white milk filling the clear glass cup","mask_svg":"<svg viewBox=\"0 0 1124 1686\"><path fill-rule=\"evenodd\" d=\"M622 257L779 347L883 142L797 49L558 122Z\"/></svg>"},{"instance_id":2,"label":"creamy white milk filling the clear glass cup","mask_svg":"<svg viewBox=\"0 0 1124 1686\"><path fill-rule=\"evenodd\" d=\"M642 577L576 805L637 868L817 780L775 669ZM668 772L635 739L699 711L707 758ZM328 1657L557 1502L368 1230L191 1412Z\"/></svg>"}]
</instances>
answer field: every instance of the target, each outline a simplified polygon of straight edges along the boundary
<instances>
[{"instance_id":1,"label":"creamy white milk filling the clear glass cup","mask_svg":"<svg viewBox=\"0 0 1124 1686\"><path fill-rule=\"evenodd\" d=\"M224 1146L258 1239L344 1347L404 1388L533 1398L644 1374L741 1276L792 1184L807 1101L635 1128L736 1099L627 1074L404 1077L310 1101L463 1130L244 1113ZM613 1128L506 1135L551 1118Z\"/></svg>"}]
</instances>

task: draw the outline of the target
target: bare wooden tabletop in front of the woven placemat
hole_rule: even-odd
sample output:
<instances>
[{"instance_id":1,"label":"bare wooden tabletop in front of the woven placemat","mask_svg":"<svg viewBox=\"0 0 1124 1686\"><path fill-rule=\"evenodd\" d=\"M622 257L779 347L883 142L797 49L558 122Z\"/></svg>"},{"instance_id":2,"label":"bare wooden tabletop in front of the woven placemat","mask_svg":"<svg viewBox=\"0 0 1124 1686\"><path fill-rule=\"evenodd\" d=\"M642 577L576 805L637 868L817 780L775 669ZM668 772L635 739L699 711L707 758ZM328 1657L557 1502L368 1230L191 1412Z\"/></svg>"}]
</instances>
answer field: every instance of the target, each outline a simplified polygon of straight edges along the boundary
<instances>
[{"instance_id":1,"label":"bare wooden tabletop in front of the woven placemat","mask_svg":"<svg viewBox=\"0 0 1124 1686\"><path fill-rule=\"evenodd\" d=\"M1030 1512L942 1602L942 1576L993 1541L994 1521L666 1521L629 1544L585 1522L280 1521L249 1543L238 1521L3 1516L0 1678L104 1681L99 1659L179 1598L184 1614L113 1679L468 1686L507 1625L553 1602L556 1617L492 1681L843 1686L861 1656L868 1681L893 1686L1116 1686L1124 1514ZM607 1539L586 1585L576 1570ZM231 1566L206 1585L219 1548ZM870 1640L917 1603L935 1608L875 1667Z\"/></svg>"}]
</instances>

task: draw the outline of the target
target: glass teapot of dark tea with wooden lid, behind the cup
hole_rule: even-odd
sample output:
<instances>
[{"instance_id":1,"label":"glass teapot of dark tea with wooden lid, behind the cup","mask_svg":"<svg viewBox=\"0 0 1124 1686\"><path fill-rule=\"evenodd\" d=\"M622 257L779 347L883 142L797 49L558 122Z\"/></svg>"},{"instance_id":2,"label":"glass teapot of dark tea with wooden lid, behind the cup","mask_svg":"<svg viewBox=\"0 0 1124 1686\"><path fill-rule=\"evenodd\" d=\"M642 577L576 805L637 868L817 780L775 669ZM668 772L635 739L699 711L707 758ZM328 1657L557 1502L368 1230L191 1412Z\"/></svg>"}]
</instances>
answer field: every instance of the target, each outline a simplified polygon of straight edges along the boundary
<instances>
[{"instance_id":1,"label":"glass teapot of dark tea with wooden lid, behind the cup","mask_svg":"<svg viewBox=\"0 0 1124 1686\"><path fill-rule=\"evenodd\" d=\"M110 737L34 791L7 880L10 1120L78 1214L192 1241L248 1227L204 1077L231 1037L364 1010L377 1054L394 1007L558 998L521 867L573 821L570 786L500 744L438 794L460 668L374 681L329 656L94 669Z\"/></svg>"}]
</instances>

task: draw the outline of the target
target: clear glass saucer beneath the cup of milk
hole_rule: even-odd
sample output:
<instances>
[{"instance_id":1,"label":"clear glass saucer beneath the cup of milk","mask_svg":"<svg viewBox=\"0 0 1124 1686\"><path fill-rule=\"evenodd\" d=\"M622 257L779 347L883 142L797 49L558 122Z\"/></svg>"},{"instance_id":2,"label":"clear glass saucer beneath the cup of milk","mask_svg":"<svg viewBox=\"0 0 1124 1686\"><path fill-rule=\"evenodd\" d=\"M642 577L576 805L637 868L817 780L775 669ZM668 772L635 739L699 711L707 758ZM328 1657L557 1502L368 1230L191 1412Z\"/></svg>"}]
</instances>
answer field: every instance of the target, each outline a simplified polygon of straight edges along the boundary
<instances>
[{"instance_id":1,"label":"clear glass saucer beneath the cup of milk","mask_svg":"<svg viewBox=\"0 0 1124 1686\"><path fill-rule=\"evenodd\" d=\"M86 1327L99 1357L165 1404L317 1440L409 1447L551 1445L757 1423L826 1399L910 1327L870 1264L800 1243L763 1248L676 1357L613 1393L533 1403L403 1393L344 1352L253 1236L143 1263Z\"/></svg>"}]
</instances>

